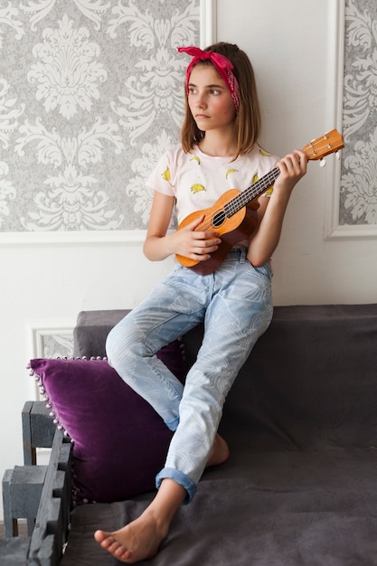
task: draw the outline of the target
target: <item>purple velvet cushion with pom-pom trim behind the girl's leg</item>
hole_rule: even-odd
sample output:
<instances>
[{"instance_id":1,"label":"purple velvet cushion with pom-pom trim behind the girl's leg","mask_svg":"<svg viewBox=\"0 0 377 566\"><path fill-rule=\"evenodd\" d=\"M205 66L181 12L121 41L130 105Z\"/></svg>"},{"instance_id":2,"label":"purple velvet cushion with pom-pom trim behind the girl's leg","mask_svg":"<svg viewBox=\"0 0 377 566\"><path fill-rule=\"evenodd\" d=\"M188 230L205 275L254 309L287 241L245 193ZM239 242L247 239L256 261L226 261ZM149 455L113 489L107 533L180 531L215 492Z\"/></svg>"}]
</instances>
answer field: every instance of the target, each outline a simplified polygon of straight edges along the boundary
<instances>
[{"instance_id":1,"label":"purple velvet cushion with pom-pom trim behind the girl's leg","mask_svg":"<svg viewBox=\"0 0 377 566\"><path fill-rule=\"evenodd\" d=\"M158 357L184 380L178 341ZM172 432L106 360L32 360L56 420L73 440L75 501L113 502L155 488Z\"/></svg>"}]
</instances>

